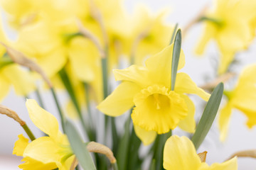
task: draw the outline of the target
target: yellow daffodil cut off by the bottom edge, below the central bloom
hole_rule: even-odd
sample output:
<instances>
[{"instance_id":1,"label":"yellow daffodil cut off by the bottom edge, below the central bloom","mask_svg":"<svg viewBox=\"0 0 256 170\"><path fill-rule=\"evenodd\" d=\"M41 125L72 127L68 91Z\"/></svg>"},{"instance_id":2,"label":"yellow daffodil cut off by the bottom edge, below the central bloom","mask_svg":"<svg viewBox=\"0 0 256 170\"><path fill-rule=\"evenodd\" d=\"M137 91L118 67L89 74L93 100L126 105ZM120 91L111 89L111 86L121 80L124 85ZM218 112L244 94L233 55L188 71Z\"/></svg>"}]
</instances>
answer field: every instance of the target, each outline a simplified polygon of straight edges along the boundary
<instances>
[{"instance_id":1,"label":"yellow daffodil cut off by the bottom edge, below the central bloom","mask_svg":"<svg viewBox=\"0 0 256 170\"><path fill-rule=\"evenodd\" d=\"M221 164L212 165L201 162L196 154L196 149L188 137L169 137L164 145L164 169L172 170L236 170L238 169L237 158Z\"/></svg>"}]
</instances>

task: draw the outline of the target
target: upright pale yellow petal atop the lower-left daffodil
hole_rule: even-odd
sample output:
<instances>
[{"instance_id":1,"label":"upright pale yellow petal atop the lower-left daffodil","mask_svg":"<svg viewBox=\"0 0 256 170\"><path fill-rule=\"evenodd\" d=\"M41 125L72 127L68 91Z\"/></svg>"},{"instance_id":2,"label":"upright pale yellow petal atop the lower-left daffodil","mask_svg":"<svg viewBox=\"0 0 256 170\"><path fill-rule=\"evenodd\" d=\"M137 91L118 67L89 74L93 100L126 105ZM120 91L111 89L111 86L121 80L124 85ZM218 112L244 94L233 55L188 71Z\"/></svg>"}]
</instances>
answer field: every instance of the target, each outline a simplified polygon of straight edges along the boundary
<instances>
[{"instance_id":1,"label":"upright pale yellow petal atop the lower-left daffodil","mask_svg":"<svg viewBox=\"0 0 256 170\"><path fill-rule=\"evenodd\" d=\"M38 103L33 99L27 99L26 107L33 124L53 139L57 139L59 133L58 120L48 111L38 106Z\"/></svg>"}]
</instances>

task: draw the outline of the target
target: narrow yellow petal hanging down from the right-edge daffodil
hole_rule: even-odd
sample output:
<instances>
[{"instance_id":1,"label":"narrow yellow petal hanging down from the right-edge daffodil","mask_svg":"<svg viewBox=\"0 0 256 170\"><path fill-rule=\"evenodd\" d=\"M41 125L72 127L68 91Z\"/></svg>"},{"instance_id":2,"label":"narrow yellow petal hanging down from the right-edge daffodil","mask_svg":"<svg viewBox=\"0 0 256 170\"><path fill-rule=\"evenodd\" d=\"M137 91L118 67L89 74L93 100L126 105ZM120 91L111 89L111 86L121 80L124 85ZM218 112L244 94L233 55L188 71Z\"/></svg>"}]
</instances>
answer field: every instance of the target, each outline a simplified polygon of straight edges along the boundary
<instances>
[{"instance_id":1,"label":"narrow yellow petal hanging down from the right-edge daffodil","mask_svg":"<svg viewBox=\"0 0 256 170\"><path fill-rule=\"evenodd\" d=\"M230 124L230 115L232 111L232 106L228 103L223 109L220 111L220 116L218 120L218 125L220 128L220 140L224 141L228 134L228 126Z\"/></svg>"}]
</instances>

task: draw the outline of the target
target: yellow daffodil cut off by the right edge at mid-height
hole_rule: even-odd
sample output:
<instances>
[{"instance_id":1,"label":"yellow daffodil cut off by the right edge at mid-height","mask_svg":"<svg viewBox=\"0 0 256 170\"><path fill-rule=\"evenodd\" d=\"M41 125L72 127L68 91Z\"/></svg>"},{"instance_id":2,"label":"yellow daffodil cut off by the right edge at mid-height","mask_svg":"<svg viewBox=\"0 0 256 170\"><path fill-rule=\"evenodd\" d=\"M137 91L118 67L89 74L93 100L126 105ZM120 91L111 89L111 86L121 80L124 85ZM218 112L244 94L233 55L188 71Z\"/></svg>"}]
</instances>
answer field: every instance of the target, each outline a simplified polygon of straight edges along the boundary
<instances>
[{"instance_id":1,"label":"yellow daffodil cut off by the right edge at mid-height","mask_svg":"<svg viewBox=\"0 0 256 170\"><path fill-rule=\"evenodd\" d=\"M228 101L220 111L220 140L225 140L228 133L232 109L236 108L247 116L247 127L256 125L256 64L246 67L240 74L238 84L233 91L224 91Z\"/></svg>"}]
</instances>

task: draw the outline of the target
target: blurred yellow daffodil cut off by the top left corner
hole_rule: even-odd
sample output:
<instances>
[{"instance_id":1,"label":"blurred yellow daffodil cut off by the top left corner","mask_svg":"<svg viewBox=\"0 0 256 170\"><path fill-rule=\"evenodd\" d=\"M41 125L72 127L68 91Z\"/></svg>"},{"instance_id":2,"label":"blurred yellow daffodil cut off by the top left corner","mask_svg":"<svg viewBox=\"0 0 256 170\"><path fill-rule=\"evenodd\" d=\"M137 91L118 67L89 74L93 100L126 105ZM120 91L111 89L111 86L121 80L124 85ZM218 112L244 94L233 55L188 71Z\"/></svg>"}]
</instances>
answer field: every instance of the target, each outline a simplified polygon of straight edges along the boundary
<instances>
[{"instance_id":1,"label":"blurred yellow daffodil cut off by the top left corner","mask_svg":"<svg viewBox=\"0 0 256 170\"><path fill-rule=\"evenodd\" d=\"M79 8L81 4L75 0L1 0L0 4L8 13L10 25L17 30L42 20L63 24L81 9Z\"/></svg>"}]
</instances>

